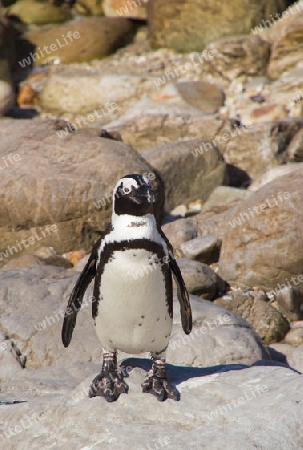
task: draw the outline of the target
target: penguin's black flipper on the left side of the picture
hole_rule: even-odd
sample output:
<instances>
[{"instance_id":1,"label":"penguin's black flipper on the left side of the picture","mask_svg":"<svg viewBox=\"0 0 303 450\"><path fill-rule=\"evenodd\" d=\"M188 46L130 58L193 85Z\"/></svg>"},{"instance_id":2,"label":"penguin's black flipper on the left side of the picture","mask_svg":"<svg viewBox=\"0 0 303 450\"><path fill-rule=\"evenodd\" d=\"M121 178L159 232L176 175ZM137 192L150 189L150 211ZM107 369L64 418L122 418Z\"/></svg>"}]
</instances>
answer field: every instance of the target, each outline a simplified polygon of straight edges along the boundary
<instances>
[{"instance_id":1,"label":"penguin's black flipper on the left side of the picture","mask_svg":"<svg viewBox=\"0 0 303 450\"><path fill-rule=\"evenodd\" d=\"M83 296L89 284L96 276L98 249L100 247L102 238L103 236L95 243L89 260L82 270L77 283L69 297L61 332L64 347L68 347L70 344L72 334L76 325L77 314L82 305Z\"/></svg>"}]
</instances>

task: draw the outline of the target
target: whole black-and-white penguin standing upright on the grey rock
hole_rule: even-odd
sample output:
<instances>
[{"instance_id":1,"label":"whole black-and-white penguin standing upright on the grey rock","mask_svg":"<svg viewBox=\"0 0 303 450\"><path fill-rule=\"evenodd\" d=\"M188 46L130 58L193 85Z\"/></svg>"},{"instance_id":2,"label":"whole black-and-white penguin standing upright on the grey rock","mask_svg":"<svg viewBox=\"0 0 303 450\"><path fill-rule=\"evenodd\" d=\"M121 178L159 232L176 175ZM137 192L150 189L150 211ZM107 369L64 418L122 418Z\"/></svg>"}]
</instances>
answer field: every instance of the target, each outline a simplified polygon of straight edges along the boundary
<instances>
[{"instance_id":1,"label":"whole black-and-white penguin standing upright on the grey rock","mask_svg":"<svg viewBox=\"0 0 303 450\"><path fill-rule=\"evenodd\" d=\"M142 383L143 392L160 401L179 400L165 368L165 350L173 324L172 275L186 334L192 328L191 308L172 246L156 223L154 201L152 186L145 176L125 175L117 182L111 223L94 245L68 301L62 328L65 347L71 341L84 293L95 279L92 315L103 347L103 365L92 382L90 397L114 401L128 392L117 366L120 350L150 352L152 369Z\"/></svg>"}]
</instances>

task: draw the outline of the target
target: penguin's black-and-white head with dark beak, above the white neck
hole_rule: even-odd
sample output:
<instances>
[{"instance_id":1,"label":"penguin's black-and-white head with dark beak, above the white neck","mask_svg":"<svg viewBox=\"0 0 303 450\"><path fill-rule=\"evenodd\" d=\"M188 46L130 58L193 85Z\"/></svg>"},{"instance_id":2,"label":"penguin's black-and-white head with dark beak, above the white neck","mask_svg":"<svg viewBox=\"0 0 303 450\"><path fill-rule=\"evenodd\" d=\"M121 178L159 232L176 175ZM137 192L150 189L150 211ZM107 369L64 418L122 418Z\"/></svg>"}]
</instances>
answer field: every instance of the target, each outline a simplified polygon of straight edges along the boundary
<instances>
[{"instance_id":1,"label":"penguin's black-and-white head with dark beak, above the white neck","mask_svg":"<svg viewBox=\"0 0 303 450\"><path fill-rule=\"evenodd\" d=\"M117 215L144 216L153 212L155 194L147 177L129 174L117 182L113 199L113 209Z\"/></svg>"}]
</instances>

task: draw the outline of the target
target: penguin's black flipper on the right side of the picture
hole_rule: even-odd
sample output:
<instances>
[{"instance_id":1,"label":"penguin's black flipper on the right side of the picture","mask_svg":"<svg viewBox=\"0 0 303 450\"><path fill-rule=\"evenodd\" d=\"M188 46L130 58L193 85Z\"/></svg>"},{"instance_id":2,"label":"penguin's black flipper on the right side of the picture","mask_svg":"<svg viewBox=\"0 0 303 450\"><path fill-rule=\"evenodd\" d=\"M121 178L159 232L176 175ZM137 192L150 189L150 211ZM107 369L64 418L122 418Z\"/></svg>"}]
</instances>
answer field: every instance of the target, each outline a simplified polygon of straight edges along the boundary
<instances>
[{"instance_id":1,"label":"penguin's black flipper on the right side of the picture","mask_svg":"<svg viewBox=\"0 0 303 450\"><path fill-rule=\"evenodd\" d=\"M169 267L173 273L175 282L177 284L177 297L180 303L181 323L185 334L189 334L192 330L192 314L189 303L188 292L185 287L185 283L180 271L180 268L175 260L173 254L173 247L162 230L160 230L161 236L165 240L165 243L169 251Z\"/></svg>"}]
</instances>

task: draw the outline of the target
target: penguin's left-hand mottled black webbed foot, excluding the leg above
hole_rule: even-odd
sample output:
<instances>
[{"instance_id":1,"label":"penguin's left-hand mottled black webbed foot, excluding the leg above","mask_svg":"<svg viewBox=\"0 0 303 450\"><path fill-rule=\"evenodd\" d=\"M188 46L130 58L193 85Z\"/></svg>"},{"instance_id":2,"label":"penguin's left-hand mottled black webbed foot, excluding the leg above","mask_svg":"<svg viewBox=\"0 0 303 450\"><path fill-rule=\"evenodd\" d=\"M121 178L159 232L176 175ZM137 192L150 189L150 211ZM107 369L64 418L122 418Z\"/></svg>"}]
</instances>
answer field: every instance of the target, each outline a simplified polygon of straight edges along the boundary
<instances>
[{"instance_id":1,"label":"penguin's left-hand mottled black webbed foot, excluding the leg above","mask_svg":"<svg viewBox=\"0 0 303 450\"><path fill-rule=\"evenodd\" d=\"M115 375L101 372L92 381L88 396L90 398L104 397L106 401L114 402L118 400L120 394L127 394L128 389L128 384L119 372Z\"/></svg>"}]
</instances>

